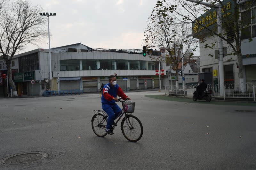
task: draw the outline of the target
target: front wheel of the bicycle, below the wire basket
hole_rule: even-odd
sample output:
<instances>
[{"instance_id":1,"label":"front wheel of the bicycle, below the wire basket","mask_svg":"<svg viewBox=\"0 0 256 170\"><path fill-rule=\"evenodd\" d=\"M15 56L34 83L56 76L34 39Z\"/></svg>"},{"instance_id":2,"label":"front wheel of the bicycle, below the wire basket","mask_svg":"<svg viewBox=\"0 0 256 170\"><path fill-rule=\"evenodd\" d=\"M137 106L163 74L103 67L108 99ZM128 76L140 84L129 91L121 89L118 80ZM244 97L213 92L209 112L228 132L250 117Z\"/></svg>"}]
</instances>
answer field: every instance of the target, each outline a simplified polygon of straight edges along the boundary
<instances>
[{"instance_id":1,"label":"front wheel of the bicycle, below the wire basket","mask_svg":"<svg viewBox=\"0 0 256 170\"><path fill-rule=\"evenodd\" d=\"M142 123L133 115L127 115L126 120L127 121L125 121L124 117L121 122L121 130L124 137L131 142L139 141L143 134Z\"/></svg>"}]
</instances>

